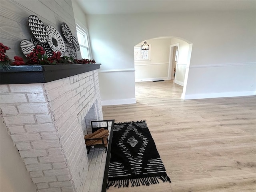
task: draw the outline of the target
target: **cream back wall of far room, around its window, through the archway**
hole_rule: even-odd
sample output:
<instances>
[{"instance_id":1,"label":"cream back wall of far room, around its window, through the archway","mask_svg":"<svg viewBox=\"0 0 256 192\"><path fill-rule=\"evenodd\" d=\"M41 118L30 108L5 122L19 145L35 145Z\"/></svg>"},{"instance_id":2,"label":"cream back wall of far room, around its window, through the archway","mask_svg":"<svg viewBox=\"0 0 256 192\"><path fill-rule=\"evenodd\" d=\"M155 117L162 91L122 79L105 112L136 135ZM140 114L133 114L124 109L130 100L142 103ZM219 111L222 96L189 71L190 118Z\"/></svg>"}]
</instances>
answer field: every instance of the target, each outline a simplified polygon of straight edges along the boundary
<instances>
[{"instance_id":1,"label":"cream back wall of far room, around its window, through the archway","mask_svg":"<svg viewBox=\"0 0 256 192\"><path fill-rule=\"evenodd\" d=\"M149 39L146 42L150 44L151 58L150 61L134 62L135 82L167 80L171 38Z\"/></svg>"}]
</instances>

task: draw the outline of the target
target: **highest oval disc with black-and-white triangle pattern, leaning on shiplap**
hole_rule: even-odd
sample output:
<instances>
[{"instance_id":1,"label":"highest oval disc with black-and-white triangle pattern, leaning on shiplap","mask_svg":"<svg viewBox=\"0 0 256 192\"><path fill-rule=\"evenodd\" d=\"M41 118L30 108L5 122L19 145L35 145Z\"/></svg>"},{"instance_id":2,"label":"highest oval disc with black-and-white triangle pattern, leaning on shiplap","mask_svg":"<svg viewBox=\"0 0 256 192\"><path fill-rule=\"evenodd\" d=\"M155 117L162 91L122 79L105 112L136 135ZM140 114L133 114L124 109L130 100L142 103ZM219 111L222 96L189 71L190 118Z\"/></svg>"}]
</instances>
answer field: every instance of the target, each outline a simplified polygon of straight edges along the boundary
<instances>
[{"instance_id":1,"label":"highest oval disc with black-and-white triangle pattern, leaning on shiplap","mask_svg":"<svg viewBox=\"0 0 256 192\"><path fill-rule=\"evenodd\" d=\"M28 26L34 36L42 43L47 42L49 36L43 22L35 15L28 17Z\"/></svg>"}]
</instances>

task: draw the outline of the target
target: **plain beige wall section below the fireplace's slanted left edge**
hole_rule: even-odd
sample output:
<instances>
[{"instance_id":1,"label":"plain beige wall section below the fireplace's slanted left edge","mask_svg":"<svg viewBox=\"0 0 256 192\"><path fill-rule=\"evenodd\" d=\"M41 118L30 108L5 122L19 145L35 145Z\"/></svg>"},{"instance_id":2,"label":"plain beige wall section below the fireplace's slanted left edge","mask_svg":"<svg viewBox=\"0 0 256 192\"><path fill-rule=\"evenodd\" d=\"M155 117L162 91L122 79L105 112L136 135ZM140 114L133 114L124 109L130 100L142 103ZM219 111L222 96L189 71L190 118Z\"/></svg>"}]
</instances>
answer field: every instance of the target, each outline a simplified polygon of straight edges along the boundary
<instances>
[{"instance_id":1,"label":"plain beige wall section below the fireplace's slanted left edge","mask_svg":"<svg viewBox=\"0 0 256 192\"><path fill-rule=\"evenodd\" d=\"M7 132L2 116L0 118L0 128L0 191L36 192L36 186L32 183L24 162Z\"/></svg>"}]
</instances>

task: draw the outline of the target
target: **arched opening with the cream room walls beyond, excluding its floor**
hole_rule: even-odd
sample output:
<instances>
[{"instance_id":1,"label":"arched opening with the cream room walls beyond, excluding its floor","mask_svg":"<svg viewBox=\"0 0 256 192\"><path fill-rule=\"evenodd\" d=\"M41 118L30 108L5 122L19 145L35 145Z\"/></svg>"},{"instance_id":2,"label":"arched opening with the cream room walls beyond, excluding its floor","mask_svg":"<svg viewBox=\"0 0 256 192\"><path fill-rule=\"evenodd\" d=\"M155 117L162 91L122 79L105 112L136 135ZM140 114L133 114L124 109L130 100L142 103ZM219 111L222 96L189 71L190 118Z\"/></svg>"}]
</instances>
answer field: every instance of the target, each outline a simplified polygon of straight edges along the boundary
<instances>
[{"instance_id":1,"label":"arched opening with the cream room walls beyond, excluding its floor","mask_svg":"<svg viewBox=\"0 0 256 192\"><path fill-rule=\"evenodd\" d=\"M147 52L149 55L147 57L142 55L141 59L138 59L138 55L134 56L135 82L172 79L174 77L172 54L174 46L178 46L174 83L183 86L182 97L186 92L192 43L179 37L162 36L143 40L134 46L134 50L138 51L144 41L150 45L150 50Z\"/></svg>"}]
</instances>

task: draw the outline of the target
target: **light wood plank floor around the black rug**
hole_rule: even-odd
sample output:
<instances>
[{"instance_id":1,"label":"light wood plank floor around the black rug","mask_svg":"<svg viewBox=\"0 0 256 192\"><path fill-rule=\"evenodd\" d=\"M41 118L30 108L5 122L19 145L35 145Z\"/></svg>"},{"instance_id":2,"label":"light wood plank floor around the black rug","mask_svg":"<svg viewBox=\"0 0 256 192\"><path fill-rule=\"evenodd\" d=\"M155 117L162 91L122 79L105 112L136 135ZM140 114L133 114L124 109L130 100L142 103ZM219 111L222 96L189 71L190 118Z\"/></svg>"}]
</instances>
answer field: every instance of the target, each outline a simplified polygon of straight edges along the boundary
<instances>
[{"instance_id":1,"label":"light wood plank floor around the black rug","mask_svg":"<svg viewBox=\"0 0 256 192\"><path fill-rule=\"evenodd\" d=\"M256 96L182 100L171 81L136 83L136 104L104 119L146 120L172 183L108 192L256 192Z\"/></svg>"}]
</instances>

